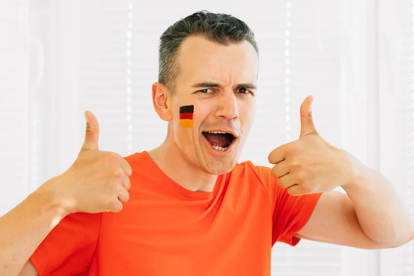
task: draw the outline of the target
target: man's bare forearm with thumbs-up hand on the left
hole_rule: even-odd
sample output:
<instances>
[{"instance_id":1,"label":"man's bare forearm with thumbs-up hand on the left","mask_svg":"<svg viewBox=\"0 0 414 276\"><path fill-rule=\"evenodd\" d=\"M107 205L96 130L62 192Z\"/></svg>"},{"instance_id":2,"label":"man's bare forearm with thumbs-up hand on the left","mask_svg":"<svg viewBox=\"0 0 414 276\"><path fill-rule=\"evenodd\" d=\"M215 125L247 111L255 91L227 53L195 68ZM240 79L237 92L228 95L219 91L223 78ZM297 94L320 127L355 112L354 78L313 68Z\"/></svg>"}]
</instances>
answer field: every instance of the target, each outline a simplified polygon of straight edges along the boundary
<instances>
[{"instance_id":1,"label":"man's bare forearm with thumbs-up hand on the left","mask_svg":"<svg viewBox=\"0 0 414 276\"><path fill-rule=\"evenodd\" d=\"M23 266L23 275L36 275L28 259L64 217L68 219L72 213L117 213L128 201L132 168L121 156L99 150L97 119L87 112L86 120L85 141L72 166L0 217L0 275L18 275ZM85 224L80 215L74 217L71 225ZM70 254L70 250L64 253Z\"/></svg>"}]
</instances>

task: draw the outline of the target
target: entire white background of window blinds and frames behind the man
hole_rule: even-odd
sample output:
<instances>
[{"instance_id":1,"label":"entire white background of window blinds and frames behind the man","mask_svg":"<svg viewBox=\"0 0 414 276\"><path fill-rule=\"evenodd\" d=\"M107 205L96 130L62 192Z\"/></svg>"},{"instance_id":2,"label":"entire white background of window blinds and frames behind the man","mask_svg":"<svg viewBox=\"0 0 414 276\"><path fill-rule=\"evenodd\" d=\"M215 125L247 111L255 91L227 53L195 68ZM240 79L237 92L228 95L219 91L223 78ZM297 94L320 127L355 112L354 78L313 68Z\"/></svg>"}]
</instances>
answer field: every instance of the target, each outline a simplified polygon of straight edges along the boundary
<instances>
[{"instance_id":1,"label":"entire white background of window blinds and frames behind the man","mask_svg":"<svg viewBox=\"0 0 414 276\"><path fill-rule=\"evenodd\" d=\"M239 17L259 44L258 110L240 161L268 166L270 150L297 139L313 95L322 136L391 179L414 214L412 0L2 0L0 215L72 164L83 110L99 120L102 150L126 156L164 140L150 100L159 37L197 10ZM277 244L272 273L413 276L413 250Z\"/></svg>"}]
</instances>

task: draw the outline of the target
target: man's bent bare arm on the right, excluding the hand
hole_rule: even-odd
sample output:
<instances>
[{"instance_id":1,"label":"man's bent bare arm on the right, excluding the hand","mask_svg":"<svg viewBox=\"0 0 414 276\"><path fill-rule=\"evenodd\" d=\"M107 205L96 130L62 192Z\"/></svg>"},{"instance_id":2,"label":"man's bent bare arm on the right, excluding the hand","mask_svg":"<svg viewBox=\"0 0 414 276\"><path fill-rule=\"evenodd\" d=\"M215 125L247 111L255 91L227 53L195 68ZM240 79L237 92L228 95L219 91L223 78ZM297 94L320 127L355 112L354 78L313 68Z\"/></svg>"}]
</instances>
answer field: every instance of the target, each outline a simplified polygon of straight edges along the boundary
<instances>
[{"instance_id":1,"label":"man's bent bare arm on the right, excluding the hand","mask_svg":"<svg viewBox=\"0 0 414 276\"><path fill-rule=\"evenodd\" d=\"M342 188L347 195L322 195L296 237L369 249L393 248L414 239L411 215L380 173L365 168Z\"/></svg>"}]
</instances>

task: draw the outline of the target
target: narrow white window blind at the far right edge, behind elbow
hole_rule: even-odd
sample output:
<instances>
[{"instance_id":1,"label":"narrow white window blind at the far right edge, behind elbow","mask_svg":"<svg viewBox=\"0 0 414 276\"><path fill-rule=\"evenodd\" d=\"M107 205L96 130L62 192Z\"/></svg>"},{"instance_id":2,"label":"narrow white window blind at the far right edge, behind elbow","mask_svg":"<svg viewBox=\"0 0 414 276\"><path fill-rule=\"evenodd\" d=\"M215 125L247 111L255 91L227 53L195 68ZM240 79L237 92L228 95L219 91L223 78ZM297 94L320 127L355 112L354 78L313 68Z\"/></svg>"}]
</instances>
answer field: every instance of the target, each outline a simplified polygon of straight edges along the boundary
<instances>
[{"instance_id":1,"label":"narrow white window blind at the far right edge, behind elbow","mask_svg":"<svg viewBox=\"0 0 414 276\"><path fill-rule=\"evenodd\" d=\"M414 215L414 2L380 1L380 165ZM383 275L414 275L414 244L381 250Z\"/></svg>"}]
</instances>

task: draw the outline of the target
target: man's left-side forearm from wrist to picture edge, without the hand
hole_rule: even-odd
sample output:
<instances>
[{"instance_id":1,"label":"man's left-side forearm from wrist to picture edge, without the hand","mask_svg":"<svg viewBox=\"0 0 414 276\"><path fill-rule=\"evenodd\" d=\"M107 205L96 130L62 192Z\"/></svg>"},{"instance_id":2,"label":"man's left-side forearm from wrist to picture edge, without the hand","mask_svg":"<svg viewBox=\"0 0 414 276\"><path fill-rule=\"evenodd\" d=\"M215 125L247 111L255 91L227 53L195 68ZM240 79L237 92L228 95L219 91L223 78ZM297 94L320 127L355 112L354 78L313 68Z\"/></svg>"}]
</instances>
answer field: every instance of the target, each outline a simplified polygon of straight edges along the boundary
<instances>
[{"instance_id":1,"label":"man's left-side forearm from wrist to picture edge, without the hand","mask_svg":"<svg viewBox=\"0 0 414 276\"><path fill-rule=\"evenodd\" d=\"M66 215L55 195L41 187L0 217L0 274L18 275L37 246Z\"/></svg>"}]
</instances>

